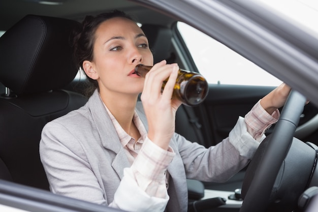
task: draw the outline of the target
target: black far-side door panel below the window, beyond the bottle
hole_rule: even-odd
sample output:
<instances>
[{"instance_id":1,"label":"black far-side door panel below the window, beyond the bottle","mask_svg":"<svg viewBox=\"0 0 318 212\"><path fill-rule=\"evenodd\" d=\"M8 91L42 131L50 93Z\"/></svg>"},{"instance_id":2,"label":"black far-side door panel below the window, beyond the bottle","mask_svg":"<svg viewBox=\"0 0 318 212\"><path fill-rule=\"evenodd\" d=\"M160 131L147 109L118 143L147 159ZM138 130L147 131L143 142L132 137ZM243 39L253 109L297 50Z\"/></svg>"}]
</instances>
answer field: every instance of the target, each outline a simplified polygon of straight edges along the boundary
<instances>
[{"instance_id":1,"label":"black far-side door panel below the window, beyond the bottle","mask_svg":"<svg viewBox=\"0 0 318 212\"><path fill-rule=\"evenodd\" d=\"M272 89L270 86L210 84L207 99L201 108L195 108L210 138L209 145L228 137L238 117L244 117ZM203 108L206 114L201 114Z\"/></svg>"}]
</instances>

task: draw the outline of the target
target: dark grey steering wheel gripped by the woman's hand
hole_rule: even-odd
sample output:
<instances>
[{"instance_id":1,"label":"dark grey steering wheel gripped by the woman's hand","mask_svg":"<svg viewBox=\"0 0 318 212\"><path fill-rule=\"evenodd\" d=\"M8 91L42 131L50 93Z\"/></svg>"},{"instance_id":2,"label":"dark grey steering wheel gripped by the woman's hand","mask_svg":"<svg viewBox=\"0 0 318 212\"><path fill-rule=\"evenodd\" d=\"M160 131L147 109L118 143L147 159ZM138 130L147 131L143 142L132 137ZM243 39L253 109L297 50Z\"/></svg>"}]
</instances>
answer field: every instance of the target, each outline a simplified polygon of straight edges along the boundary
<instances>
[{"instance_id":1,"label":"dark grey steering wheel gripped by the woman's hand","mask_svg":"<svg viewBox=\"0 0 318 212\"><path fill-rule=\"evenodd\" d=\"M270 136L267 136L264 141L262 141L246 171L242 187L242 197L244 200L242 207L240 208L240 212L262 212L268 207L269 201L277 201L272 198L273 193L277 192L278 190L273 189L273 186L274 184L277 184L276 178L279 178L280 181L282 181L283 178L290 177L282 176L283 174L290 175L289 172L284 170L285 167L283 166L286 163L285 160L287 159L285 158L288 156L290 147L292 146L293 141L296 139L293 138L293 136L305 102L306 98L304 96L295 90L291 91L289 98L281 111L280 118L276 123L273 133ZM297 145L300 144L308 146L303 142L296 143L298 143ZM263 146L261 147L261 145ZM295 152L297 152L297 149L294 151L294 153ZM315 153L313 153L313 155L313 157L315 157ZM302 164L302 166L304 167L304 164ZM250 168L252 170L249 170ZM291 169L293 169L293 167ZM312 167L308 167L307 169L311 173ZM310 178L310 173L308 178ZM308 183L308 179L306 178L305 180L306 185L303 187L306 187ZM280 185L278 187L280 187ZM287 187L289 187L289 185L287 185ZM305 188L297 189L301 190ZM301 192L303 192L303 190ZM298 196L295 198L298 198Z\"/></svg>"}]
</instances>

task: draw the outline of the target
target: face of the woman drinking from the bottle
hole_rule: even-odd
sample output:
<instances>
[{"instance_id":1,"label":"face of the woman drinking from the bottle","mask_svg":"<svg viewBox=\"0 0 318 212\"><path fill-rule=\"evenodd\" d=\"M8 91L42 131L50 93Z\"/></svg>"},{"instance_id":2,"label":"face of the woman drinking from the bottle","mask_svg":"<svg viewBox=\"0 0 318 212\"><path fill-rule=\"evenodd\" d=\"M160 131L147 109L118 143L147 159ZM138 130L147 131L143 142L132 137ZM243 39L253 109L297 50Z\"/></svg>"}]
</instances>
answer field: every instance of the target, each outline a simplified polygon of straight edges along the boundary
<instances>
[{"instance_id":1,"label":"face of the woman drinking from the bottle","mask_svg":"<svg viewBox=\"0 0 318 212\"><path fill-rule=\"evenodd\" d=\"M116 17L97 28L93 60L84 61L86 74L99 83L100 93L139 94L144 78L134 74L137 64L153 65L148 40L133 21Z\"/></svg>"}]
</instances>

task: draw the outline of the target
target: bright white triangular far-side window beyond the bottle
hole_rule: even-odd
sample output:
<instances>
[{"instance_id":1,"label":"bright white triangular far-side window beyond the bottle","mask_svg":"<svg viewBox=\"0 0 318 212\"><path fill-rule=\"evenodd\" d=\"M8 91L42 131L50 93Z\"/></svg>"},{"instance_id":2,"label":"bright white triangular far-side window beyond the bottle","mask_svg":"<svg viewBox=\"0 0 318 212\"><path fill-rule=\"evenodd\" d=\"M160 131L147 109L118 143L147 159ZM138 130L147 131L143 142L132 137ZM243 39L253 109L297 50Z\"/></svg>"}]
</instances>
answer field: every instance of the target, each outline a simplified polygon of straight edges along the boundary
<instances>
[{"instance_id":1,"label":"bright white triangular far-side window beyond the bottle","mask_svg":"<svg viewBox=\"0 0 318 212\"><path fill-rule=\"evenodd\" d=\"M279 79L196 28L178 22L177 28L199 72L212 84L277 86Z\"/></svg>"}]
</instances>

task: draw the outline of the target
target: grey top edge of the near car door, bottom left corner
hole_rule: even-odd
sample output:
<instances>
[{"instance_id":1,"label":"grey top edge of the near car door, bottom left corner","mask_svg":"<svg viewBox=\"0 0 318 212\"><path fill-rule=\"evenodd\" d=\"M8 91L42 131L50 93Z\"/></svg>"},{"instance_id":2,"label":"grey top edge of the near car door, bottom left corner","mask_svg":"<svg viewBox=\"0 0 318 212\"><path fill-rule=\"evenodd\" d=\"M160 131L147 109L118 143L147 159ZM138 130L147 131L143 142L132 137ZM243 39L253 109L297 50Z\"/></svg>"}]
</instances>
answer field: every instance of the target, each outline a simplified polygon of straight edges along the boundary
<instances>
[{"instance_id":1,"label":"grey top edge of the near car door, bottom left corner","mask_svg":"<svg viewBox=\"0 0 318 212\"><path fill-rule=\"evenodd\" d=\"M42 189L0 179L0 211L6 212L125 212Z\"/></svg>"}]
</instances>

